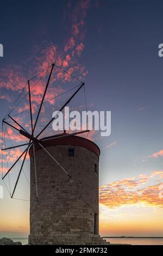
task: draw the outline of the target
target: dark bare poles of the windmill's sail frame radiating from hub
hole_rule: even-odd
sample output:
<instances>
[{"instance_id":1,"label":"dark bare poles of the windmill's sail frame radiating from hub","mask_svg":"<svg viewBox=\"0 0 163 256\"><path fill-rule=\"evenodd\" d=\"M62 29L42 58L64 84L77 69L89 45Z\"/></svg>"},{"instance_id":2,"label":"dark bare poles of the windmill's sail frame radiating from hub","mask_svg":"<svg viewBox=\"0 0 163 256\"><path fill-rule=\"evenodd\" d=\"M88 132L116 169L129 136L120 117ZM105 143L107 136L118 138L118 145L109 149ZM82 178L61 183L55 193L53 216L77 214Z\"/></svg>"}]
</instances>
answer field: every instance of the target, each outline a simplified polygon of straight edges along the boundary
<instances>
[{"instance_id":1,"label":"dark bare poles of the windmill's sail frame radiating from hub","mask_svg":"<svg viewBox=\"0 0 163 256\"><path fill-rule=\"evenodd\" d=\"M15 149L15 148L18 148L18 147L23 147L25 145L27 145L27 148L23 151L23 153L17 157L16 161L12 164L12 166L7 170L7 172L4 174L4 176L2 176L2 179L4 179L7 175L9 175L10 171L12 170L12 168L15 166L15 164L23 157L23 161L22 161L22 164L21 164L21 168L18 172L18 176L17 176L17 179L16 179L16 182L15 182L15 186L14 186L14 190L12 191L11 193L11 198L13 198L14 196L14 193L15 193L15 190L16 190L16 187L17 187L17 184L18 184L18 180L20 179L20 175L21 175L21 172L22 172L22 169L23 169L23 165L24 165L24 162L26 161L26 157L27 157L27 153L28 153L28 150L29 150L29 147L33 147L33 151L34 151L34 169L35 169L35 185L36 185L36 198L37 200L39 200L39 196L38 196L38 190L37 190L37 170L36 170L36 159L35 159L35 143L38 143L40 145L40 147L53 159L53 161L55 163L58 164L58 166L60 166L60 168L62 169L62 171L68 176L68 178L71 178L70 174L68 174L68 172L66 171L66 169L64 167L61 166L61 164L55 159L54 156L51 155L51 153L49 153L49 151L43 147L42 145L42 142L44 140L47 140L47 139L51 139L52 137L53 138L58 138L58 137L65 137L65 136L75 136L75 135L78 135L80 133L84 133L84 132L89 132L89 130L85 130L85 131L79 131L79 132L74 132L74 133L70 133L70 134L66 134L63 133L63 134L59 134L59 135L54 135L54 136L49 136L49 137L46 137L46 138L42 138L42 139L39 139L39 136L42 134L43 131L45 131L48 127L49 124L52 123L52 121L57 117L57 115L55 115L55 117L53 117L51 120L49 120L49 122L46 124L45 127L43 127L43 129L36 135L34 136L34 131L35 131L35 128L36 128L36 125L37 125L37 121L39 119L39 116L40 116L40 112L41 112L41 109L42 109L42 104L43 104L43 101L45 99L45 96L46 96L46 92L47 92L47 89L48 89L48 86L49 86L49 83L51 81L51 76L52 76L52 72L53 72L53 69L54 69L54 66L57 66L56 64L52 64L49 68L51 68L51 71L50 71L50 74L48 76L48 81L47 81L47 84L46 84L46 87L45 87L45 90L43 92L43 96L42 96L42 100L41 100L41 103L40 103L40 107L39 107L39 111L37 112L37 117L36 117L36 120L35 120L35 123L33 124L33 114L32 114L32 100L31 100L31 94L30 94L30 81L28 80L28 96L29 96L29 109L30 109L30 126L31 126L31 131L32 133L30 134L20 123L18 123L18 121L16 121L13 117L11 117L10 113L9 112L5 118L3 119L2 123L5 123L6 125L10 126L12 129L15 129L17 130L20 135L24 136L25 138L29 139L29 142L28 143L23 143L23 144L20 144L20 145L16 145L16 146L13 146L12 147L8 147L8 148L2 148L1 150L10 150L10 149ZM58 66L57 66L58 67ZM59 68L59 67L58 67ZM62 71L66 72L68 74L67 71L63 70ZM74 76L72 76L71 74L68 74L70 75L71 77L73 78L76 78ZM76 80L78 80L76 78ZM78 80L79 81L79 80ZM65 102L65 104L60 108L59 111L62 111L62 109L64 109L66 107L66 105L73 99L73 97L79 92L79 90L84 87L84 92L85 92L85 84L81 81L79 81L80 84L79 84L79 88L72 94L72 96ZM7 119L7 118L8 119ZM5 119L7 120L12 120L13 123L15 123L18 127L20 127L20 129L18 129L17 127L15 127L14 125L11 125L9 123L9 121L6 121Z\"/></svg>"}]
</instances>

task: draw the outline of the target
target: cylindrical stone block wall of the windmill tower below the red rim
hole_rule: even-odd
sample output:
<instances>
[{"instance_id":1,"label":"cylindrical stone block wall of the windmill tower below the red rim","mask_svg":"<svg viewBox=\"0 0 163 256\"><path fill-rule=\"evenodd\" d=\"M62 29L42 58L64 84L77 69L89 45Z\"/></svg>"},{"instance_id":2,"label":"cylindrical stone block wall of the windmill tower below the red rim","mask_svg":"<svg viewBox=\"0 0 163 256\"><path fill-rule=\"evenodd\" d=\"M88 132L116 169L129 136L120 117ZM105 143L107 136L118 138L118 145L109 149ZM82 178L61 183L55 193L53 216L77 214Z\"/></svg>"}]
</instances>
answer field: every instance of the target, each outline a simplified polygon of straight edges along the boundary
<instances>
[{"instance_id":1,"label":"cylindrical stone block wall of the windmill tower below the red rim","mask_svg":"<svg viewBox=\"0 0 163 256\"><path fill-rule=\"evenodd\" d=\"M74 157L68 157L68 148ZM98 156L71 145L46 148L71 175L47 155L36 151L39 202L36 202L33 155L30 156L30 235L32 244L103 244L98 235ZM97 214L94 234L94 215Z\"/></svg>"}]
</instances>

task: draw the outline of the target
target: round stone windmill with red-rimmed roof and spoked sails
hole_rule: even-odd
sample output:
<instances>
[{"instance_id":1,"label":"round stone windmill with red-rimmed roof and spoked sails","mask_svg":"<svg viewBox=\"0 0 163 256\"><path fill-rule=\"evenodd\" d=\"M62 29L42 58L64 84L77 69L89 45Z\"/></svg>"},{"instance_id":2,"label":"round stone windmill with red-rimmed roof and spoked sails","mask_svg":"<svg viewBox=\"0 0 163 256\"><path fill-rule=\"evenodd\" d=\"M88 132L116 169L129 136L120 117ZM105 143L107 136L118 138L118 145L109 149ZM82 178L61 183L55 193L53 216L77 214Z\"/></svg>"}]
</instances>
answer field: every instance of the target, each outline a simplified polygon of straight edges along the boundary
<instances>
[{"instance_id":1,"label":"round stone windmill with red-rimmed roof and spoked sails","mask_svg":"<svg viewBox=\"0 0 163 256\"><path fill-rule=\"evenodd\" d=\"M77 136L80 131L68 134L66 132L55 136L39 139L52 118L41 132L34 136L34 130L45 99L54 64L48 77L45 92L33 124L30 84L28 95L30 106L31 133L29 133L10 114L3 123L16 129L22 136L29 139L26 150L8 169L3 179L9 174L16 162L22 159L11 198L22 172L27 153L30 155L30 235L29 243L34 245L102 245L106 241L99 236L98 220L98 163L100 150L89 139ZM76 92L60 108L60 111L71 101L84 86L81 83ZM18 129L18 127L20 129ZM3 148L10 150L12 148Z\"/></svg>"}]
</instances>

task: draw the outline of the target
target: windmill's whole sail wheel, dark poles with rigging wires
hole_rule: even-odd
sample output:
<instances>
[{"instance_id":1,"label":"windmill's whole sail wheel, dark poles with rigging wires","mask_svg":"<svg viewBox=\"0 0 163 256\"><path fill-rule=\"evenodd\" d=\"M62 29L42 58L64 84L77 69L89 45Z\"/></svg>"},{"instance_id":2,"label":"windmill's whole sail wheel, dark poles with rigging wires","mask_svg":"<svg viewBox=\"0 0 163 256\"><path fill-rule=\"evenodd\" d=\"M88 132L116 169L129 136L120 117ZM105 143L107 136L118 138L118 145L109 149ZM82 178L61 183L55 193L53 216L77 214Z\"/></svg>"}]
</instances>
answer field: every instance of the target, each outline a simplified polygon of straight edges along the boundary
<instances>
[{"instance_id":1,"label":"windmill's whole sail wheel, dark poles with rigging wires","mask_svg":"<svg viewBox=\"0 0 163 256\"><path fill-rule=\"evenodd\" d=\"M89 130L85 130L85 131L79 131L79 132L74 132L74 133L69 133L69 134L67 134L67 133L66 134L65 133L60 133L58 135L53 135L53 136L48 136L48 137L45 137L45 138L40 138L40 136L47 129L47 127L52 124L52 122L53 122L53 120L55 118L57 118L57 115L55 115L55 117L51 118L47 122L47 124L44 127L42 127L42 130L39 131L37 133L37 135L35 135L35 130L36 130L37 123L38 123L38 120L39 120L39 117L40 117L42 106L43 106L44 103L46 103L48 101L48 100L45 101L46 93L47 93L47 89L49 87L49 83L51 82L51 79L52 79L52 74L53 74L53 71L54 71L54 67L55 68L59 68L60 70L62 70L62 72L64 72L65 74L71 76L72 78L74 78L75 80L77 80L79 82L79 84L77 86L78 87L77 90L70 96L70 98L64 103L64 105L60 107L59 112L62 111L68 105L68 103L73 99L73 97L79 92L79 90L81 88L84 88L84 92L85 92L85 86L84 86L83 82L81 82L76 77L74 77L72 74L69 74L67 71L61 69L59 66L57 66L56 64L53 63L51 66L48 67L48 69L42 71L42 72L45 72L47 70L50 70L49 76L48 76L48 80L47 80L47 83L46 83L46 86L45 86L45 89L44 89L44 92L43 92L43 95L42 95L41 103L39 105L37 105L37 106L34 106L34 107L38 107L37 115L36 115L36 118L34 120L33 119L33 112L32 112L34 107L32 106L32 95L31 95L31 84L30 84L30 81L33 78L31 80L28 80L28 90L27 90L26 95L28 96L28 100L29 100L28 101L28 106L29 106L28 110L29 110L29 114L30 114L30 124L29 124L30 125L29 126L29 128L30 128L29 130L30 131L27 131L27 129L24 127L24 125L16 120L15 115L12 115L12 111L15 109L15 107L18 105L18 103L22 100L22 99L20 99L20 95L18 95L16 101L14 102L14 105L12 106L12 108L10 109L8 114L5 115L5 117L4 117L3 121L2 121L2 135L4 133L4 126L5 127L8 126L8 127L10 127L10 129L12 129L15 132L17 132L18 135L23 136L23 138L26 139L26 141L28 141L27 143L18 144L18 145L13 145L12 144L12 147L6 147L6 145L2 143L2 153L6 152L7 150L18 149L18 148L26 146L26 149L24 149L24 151L20 154L20 156L18 156L17 159L15 159L15 161L12 163L10 168L8 168L6 170L5 174L4 175L2 174L2 179L4 180L10 174L10 172L15 167L17 162L22 160L22 163L20 164L20 169L18 170L18 175L17 175L17 179L16 179L16 182L15 182L15 185L14 185L14 189L13 189L13 191L10 192L11 198L14 198L14 193L15 193L18 181L20 180L20 175L22 173L24 162L27 159L27 154L28 154L28 151L29 151L30 147L33 147L33 152L34 152L34 171L35 171L36 199L39 200L39 195L38 195L38 190L37 190L37 166L36 166L36 160L35 160L35 144L39 144L39 146L46 152L46 154L48 154L53 159L53 161L58 164L58 166L60 167L61 171L64 172L65 175L67 175L67 178L71 179L70 174L68 174L68 172L64 168L64 166L62 166L57 161L57 159L55 159L55 157L45 147L43 147L42 142L44 140L51 139L52 137L58 138L58 137L65 137L65 136L67 137L67 136L72 136L72 135L75 136L75 135L78 135L80 133L89 132ZM38 75L42 74L42 72L39 73ZM76 88L76 87L74 87L74 88ZM70 90L68 90L67 92L70 92ZM7 131L7 129L6 129L6 131ZM4 135L2 137L2 141L3 141L3 139L4 139ZM2 169L3 169L3 162L4 161L3 161L3 154L2 154Z\"/></svg>"}]
</instances>

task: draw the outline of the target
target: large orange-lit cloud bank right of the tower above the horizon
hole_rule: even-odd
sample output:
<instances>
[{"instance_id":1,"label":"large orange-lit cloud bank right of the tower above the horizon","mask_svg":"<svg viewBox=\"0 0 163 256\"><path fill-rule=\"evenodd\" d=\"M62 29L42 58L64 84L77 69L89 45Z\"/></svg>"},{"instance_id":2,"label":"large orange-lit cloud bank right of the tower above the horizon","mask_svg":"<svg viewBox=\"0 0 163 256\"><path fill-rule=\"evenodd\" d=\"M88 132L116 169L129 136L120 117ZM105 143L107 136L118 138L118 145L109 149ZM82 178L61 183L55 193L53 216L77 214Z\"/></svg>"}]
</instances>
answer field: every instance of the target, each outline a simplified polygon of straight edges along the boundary
<instances>
[{"instance_id":1,"label":"large orange-lit cloud bank right of the tower above the horizon","mask_svg":"<svg viewBox=\"0 0 163 256\"><path fill-rule=\"evenodd\" d=\"M158 182L149 185L153 176L158 176ZM163 200L159 198L159 186L162 182L163 171L153 172L147 176L138 176L112 182L99 188L99 202L110 209L119 206L145 204L163 208ZM146 184L146 187L144 185Z\"/></svg>"}]
</instances>

